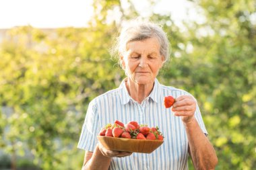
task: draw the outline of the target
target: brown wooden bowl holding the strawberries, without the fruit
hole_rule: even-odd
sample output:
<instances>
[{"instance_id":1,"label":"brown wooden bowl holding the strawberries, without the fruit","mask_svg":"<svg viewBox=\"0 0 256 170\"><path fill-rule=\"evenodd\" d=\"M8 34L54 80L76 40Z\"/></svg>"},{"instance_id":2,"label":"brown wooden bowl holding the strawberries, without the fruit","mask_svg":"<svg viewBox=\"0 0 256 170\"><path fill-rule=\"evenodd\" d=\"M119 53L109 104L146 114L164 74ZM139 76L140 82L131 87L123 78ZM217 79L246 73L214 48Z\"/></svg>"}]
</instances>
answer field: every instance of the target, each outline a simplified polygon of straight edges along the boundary
<instances>
[{"instance_id":1,"label":"brown wooden bowl holding the strawberries, without the fruit","mask_svg":"<svg viewBox=\"0 0 256 170\"><path fill-rule=\"evenodd\" d=\"M108 150L127 151L131 153L152 153L164 142L162 140L139 140L108 136L97 136L97 138Z\"/></svg>"}]
</instances>

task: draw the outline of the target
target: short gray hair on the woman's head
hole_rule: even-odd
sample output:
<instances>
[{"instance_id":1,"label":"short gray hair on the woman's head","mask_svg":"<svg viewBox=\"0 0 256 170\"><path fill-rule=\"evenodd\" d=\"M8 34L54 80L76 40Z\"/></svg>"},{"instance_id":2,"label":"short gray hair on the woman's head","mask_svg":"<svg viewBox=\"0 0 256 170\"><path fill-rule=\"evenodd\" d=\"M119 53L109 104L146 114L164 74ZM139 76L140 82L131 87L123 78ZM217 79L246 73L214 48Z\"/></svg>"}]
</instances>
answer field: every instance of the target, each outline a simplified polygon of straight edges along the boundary
<instances>
[{"instance_id":1,"label":"short gray hair on the woman's head","mask_svg":"<svg viewBox=\"0 0 256 170\"><path fill-rule=\"evenodd\" d=\"M121 34L112 49L113 56L120 56L125 52L127 43L147 38L156 37L160 43L160 54L164 56L164 62L169 60L169 41L162 27L152 22L139 22L133 20L121 28Z\"/></svg>"}]
</instances>

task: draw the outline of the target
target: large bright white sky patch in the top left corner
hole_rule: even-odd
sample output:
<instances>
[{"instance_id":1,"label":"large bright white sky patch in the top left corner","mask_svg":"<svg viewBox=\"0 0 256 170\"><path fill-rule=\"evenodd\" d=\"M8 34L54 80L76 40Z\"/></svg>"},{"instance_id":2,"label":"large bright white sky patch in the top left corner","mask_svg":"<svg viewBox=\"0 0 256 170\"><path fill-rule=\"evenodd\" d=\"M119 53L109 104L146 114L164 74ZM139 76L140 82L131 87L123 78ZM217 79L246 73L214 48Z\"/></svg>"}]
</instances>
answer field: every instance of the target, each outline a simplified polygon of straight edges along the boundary
<instances>
[{"instance_id":1,"label":"large bright white sky patch in the top left corner","mask_svg":"<svg viewBox=\"0 0 256 170\"><path fill-rule=\"evenodd\" d=\"M91 0L0 1L0 28L84 27L92 17Z\"/></svg>"}]
</instances>

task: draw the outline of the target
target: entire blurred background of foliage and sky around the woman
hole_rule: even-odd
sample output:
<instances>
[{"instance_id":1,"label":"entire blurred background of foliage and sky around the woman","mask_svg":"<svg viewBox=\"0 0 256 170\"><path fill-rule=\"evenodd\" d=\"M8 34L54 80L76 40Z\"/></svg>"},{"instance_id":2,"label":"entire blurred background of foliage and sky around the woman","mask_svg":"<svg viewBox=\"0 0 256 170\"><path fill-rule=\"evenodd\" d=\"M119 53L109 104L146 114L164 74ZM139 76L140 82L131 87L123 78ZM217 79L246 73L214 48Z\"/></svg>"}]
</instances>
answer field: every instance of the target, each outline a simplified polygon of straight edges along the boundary
<instances>
[{"instance_id":1,"label":"entire blurred background of foliage and sky around the woman","mask_svg":"<svg viewBox=\"0 0 256 170\"><path fill-rule=\"evenodd\" d=\"M88 103L125 77L109 49L138 16L168 34L171 60L158 79L197 98L216 169L255 169L255 0L11 0L0 8L0 169L81 169Z\"/></svg>"}]
</instances>

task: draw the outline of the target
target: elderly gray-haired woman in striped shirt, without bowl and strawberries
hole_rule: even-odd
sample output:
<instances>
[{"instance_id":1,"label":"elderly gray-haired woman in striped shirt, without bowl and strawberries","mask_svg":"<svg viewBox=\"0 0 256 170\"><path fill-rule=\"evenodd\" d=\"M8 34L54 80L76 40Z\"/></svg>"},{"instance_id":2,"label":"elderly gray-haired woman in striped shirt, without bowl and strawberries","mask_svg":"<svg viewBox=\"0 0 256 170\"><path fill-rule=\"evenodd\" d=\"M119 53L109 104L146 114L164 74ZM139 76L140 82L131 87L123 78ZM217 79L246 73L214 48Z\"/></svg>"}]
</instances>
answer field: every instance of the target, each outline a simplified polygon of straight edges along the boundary
<instances>
[{"instance_id":1,"label":"elderly gray-haired woman in striped shirt, without bowl and strawberries","mask_svg":"<svg viewBox=\"0 0 256 170\"><path fill-rule=\"evenodd\" d=\"M90 102L78 148L86 151L82 169L188 169L191 155L195 169L214 169L214 147L195 98L188 92L165 86L156 76L168 60L168 39L156 24L133 22L124 27L117 43L119 61L127 78L119 88ZM172 109L164 97L172 95ZM151 154L109 151L97 141L108 123L136 121L160 126L164 143Z\"/></svg>"}]
</instances>

